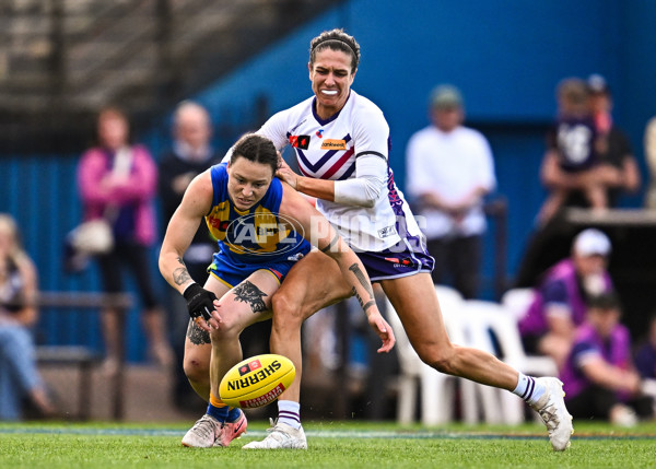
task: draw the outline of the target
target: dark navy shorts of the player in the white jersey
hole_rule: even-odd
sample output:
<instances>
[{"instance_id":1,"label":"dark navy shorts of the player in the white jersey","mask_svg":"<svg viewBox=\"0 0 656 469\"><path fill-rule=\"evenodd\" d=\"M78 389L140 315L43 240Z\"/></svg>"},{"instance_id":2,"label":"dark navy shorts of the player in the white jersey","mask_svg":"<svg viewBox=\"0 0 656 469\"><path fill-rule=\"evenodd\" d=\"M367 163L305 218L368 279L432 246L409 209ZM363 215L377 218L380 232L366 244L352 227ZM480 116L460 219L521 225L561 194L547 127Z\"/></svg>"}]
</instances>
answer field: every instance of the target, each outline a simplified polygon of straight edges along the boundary
<instances>
[{"instance_id":1,"label":"dark navy shorts of the player in the white jersey","mask_svg":"<svg viewBox=\"0 0 656 469\"><path fill-rule=\"evenodd\" d=\"M414 275L419 272L431 273L435 259L429 255L424 243L415 244L419 250L411 249L403 239L389 249L379 251L356 251L372 282L400 277Z\"/></svg>"}]
</instances>

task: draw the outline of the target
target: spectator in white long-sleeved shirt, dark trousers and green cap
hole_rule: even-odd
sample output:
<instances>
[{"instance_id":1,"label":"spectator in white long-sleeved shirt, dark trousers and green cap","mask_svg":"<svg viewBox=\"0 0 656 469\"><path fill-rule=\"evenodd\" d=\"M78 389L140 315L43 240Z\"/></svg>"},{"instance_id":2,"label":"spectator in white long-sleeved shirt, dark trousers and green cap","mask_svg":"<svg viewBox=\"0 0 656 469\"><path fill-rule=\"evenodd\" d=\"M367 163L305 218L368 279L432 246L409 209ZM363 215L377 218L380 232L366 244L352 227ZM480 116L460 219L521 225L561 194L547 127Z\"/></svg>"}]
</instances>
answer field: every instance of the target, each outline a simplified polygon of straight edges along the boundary
<instances>
[{"instance_id":1,"label":"spectator in white long-sleeved shirt, dark trousers and green cap","mask_svg":"<svg viewBox=\"0 0 656 469\"><path fill-rule=\"evenodd\" d=\"M462 126L460 92L440 85L431 94L432 124L408 142L407 190L418 202L418 220L435 258L433 282L453 277L466 298L477 296L482 236L487 230L483 197L496 186L492 151L477 130Z\"/></svg>"}]
</instances>

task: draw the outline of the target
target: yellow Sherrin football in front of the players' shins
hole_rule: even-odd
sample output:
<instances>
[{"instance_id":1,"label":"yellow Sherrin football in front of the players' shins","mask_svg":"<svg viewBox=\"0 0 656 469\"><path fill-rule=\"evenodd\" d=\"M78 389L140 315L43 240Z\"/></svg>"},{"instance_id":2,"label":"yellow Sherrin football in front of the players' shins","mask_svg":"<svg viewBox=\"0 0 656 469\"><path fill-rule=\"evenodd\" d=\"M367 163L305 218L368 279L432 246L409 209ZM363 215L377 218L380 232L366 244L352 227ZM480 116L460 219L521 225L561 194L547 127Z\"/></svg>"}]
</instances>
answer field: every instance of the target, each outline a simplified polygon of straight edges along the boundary
<instances>
[{"instance_id":1,"label":"yellow Sherrin football in front of the players' shins","mask_svg":"<svg viewBox=\"0 0 656 469\"><path fill-rule=\"evenodd\" d=\"M221 400L233 407L255 409L278 399L294 382L296 368L282 355L256 355L237 363L221 379Z\"/></svg>"}]
</instances>

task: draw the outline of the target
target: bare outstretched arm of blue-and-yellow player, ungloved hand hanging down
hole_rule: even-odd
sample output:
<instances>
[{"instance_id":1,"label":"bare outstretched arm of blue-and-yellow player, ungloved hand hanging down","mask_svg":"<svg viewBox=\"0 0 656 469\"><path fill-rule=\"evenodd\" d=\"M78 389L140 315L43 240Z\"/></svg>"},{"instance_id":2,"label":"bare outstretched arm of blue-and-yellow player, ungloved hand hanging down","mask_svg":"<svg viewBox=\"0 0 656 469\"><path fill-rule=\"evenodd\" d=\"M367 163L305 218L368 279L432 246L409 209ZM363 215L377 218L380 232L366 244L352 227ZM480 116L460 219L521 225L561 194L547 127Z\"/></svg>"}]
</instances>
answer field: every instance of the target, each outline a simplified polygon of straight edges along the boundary
<instances>
[{"instance_id":1,"label":"bare outstretched arm of blue-and-yellow player, ungloved hand hanging down","mask_svg":"<svg viewBox=\"0 0 656 469\"><path fill-rule=\"evenodd\" d=\"M380 315L374 289L360 258L339 236L328 220L311 206L298 192L283 184L284 196L280 213L295 223L294 228L321 251L337 261L343 279L351 286L353 295L366 314L367 321L383 341L378 352L388 352L395 343L391 327Z\"/></svg>"}]
</instances>

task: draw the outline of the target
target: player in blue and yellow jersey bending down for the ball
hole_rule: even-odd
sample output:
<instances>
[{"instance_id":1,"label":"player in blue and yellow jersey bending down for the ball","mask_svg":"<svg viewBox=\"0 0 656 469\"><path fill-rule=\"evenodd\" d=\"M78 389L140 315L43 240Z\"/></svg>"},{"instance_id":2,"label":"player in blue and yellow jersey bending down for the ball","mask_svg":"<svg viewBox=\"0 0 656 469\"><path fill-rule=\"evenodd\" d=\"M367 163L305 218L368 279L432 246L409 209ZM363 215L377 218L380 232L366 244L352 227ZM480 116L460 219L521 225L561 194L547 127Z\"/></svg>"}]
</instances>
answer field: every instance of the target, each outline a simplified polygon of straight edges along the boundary
<instances>
[{"instance_id":1,"label":"player in blue and yellow jersey bending down for the ball","mask_svg":"<svg viewBox=\"0 0 656 469\"><path fill-rule=\"evenodd\" d=\"M246 431L242 410L221 402L219 384L243 360L242 330L271 317L271 297L292 266L311 253L308 241L333 259L360 300L383 341L378 351L388 352L395 343L358 256L303 196L274 177L279 159L273 143L246 134L232 150L230 163L212 166L191 181L160 254L162 275L187 300L195 327L211 338L210 402L206 415L184 436L185 446L227 446ZM219 253L201 286L189 275L183 255L203 219L219 242ZM187 339L190 347L189 333ZM208 348L201 350L207 354Z\"/></svg>"}]
</instances>

